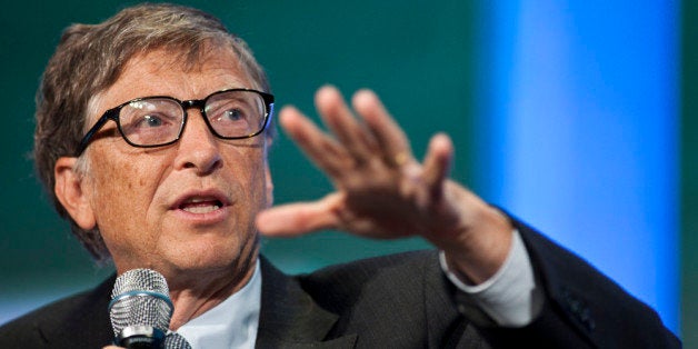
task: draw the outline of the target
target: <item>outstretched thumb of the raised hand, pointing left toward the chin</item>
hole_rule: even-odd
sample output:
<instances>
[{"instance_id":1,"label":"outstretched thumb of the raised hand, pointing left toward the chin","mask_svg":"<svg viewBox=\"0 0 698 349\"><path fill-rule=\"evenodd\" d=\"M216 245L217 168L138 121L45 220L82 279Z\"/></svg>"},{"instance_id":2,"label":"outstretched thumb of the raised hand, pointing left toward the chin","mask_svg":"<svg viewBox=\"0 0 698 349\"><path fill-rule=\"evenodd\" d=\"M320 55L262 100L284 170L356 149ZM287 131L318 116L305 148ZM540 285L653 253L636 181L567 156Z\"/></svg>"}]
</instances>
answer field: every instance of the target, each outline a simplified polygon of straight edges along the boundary
<instances>
[{"instance_id":1,"label":"outstretched thumb of the raised hand, pointing left toward the chin","mask_svg":"<svg viewBox=\"0 0 698 349\"><path fill-rule=\"evenodd\" d=\"M277 206L257 215L259 232L272 237L296 237L322 229L338 228L335 213L339 195L330 195L313 202Z\"/></svg>"}]
</instances>

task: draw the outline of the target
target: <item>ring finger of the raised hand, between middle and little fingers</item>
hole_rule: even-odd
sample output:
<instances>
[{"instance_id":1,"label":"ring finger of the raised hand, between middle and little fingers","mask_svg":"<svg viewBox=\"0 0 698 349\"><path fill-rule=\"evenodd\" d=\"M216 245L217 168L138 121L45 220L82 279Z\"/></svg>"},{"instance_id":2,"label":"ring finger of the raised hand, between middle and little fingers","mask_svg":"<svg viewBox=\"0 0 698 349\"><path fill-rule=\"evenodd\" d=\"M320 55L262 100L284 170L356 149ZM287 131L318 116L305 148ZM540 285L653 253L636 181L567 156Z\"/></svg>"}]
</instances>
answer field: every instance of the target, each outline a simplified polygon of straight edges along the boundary
<instances>
[{"instance_id":1,"label":"ring finger of the raised hand, between middle and little fingers","mask_svg":"<svg viewBox=\"0 0 698 349\"><path fill-rule=\"evenodd\" d=\"M360 90L355 93L352 104L357 112L363 117L377 146L389 163L402 166L407 161L413 160L407 136L376 93L367 89Z\"/></svg>"}]
</instances>

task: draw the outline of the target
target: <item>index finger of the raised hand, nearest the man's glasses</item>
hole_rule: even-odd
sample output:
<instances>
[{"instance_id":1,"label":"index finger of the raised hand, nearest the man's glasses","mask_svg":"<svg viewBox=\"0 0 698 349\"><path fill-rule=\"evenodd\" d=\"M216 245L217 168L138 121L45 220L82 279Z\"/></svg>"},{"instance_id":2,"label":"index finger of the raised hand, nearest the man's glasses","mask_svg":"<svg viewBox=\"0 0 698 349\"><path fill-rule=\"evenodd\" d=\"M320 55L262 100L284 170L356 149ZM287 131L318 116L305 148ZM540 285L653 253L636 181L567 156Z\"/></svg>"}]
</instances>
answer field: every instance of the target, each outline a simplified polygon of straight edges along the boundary
<instances>
[{"instance_id":1,"label":"index finger of the raised hand, nearest the man's glasses","mask_svg":"<svg viewBox=\"0 0 698 349\"><path fill-rule=\"evenodd\" d=\"M322 171L332 178L340 177L347 166L348 154L333 139L293 107L285 107L279 113L283 130Z\"/></svg>"}]
</instances>

